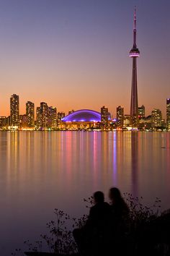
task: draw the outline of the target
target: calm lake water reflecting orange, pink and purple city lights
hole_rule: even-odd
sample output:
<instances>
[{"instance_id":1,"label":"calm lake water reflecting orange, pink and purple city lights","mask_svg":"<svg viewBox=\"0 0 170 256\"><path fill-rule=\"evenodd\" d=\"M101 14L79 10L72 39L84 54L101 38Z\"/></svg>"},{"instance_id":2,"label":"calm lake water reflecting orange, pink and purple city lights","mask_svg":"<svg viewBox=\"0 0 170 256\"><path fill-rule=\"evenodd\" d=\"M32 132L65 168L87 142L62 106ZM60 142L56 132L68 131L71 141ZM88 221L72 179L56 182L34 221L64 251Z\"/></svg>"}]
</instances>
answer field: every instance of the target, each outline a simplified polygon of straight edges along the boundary
<instances>
[{"instance_id":1,"label":"calm lake water reflecting orange, pink and purple city lights","mask_svg":"<svg viewBox=\"0 0 170 256\"><path fill-rule=\"evenodd\" d=\"M81 216L84 197L116 186L170 208L168 132L0 132L0 252L35 241L53 209Z\"/></svg>"}]
</instances>

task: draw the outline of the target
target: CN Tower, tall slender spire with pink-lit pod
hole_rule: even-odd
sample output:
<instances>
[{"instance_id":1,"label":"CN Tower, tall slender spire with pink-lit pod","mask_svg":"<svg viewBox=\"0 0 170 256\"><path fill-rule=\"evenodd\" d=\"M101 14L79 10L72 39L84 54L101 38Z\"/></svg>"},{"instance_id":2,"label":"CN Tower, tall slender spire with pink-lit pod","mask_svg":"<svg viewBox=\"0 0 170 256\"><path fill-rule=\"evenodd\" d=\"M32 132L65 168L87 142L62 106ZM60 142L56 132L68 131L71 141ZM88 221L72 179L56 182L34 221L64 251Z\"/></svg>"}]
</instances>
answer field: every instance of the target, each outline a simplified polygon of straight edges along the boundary
<instances>
[{"instance_id":1,"label":"CN Tower, tall slender spire with pink-lit pod","mask_svg":"<svg viewBox=\"0 0 170 256\"><path fill-rule=\"evenodd\" d=\"M130 57L133 58L132 72L132 89L130 103L130 119L132 127L138 127L138 87L137 87L137 58L140 51L136 45L136 8L134 12L134 27L133 27L133 48L130 50Z\"/></svg>"}]
</instances>

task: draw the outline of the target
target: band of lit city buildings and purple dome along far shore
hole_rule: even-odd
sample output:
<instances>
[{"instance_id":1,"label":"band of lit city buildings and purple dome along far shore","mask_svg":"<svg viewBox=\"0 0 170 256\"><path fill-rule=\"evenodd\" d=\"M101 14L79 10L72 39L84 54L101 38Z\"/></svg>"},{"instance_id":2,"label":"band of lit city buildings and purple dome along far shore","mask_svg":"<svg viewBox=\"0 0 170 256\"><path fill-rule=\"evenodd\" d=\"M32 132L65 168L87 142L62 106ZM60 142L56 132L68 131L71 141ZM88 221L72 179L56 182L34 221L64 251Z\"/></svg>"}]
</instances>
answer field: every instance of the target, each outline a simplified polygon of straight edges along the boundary
<instances>
[{"instance_id":1,"label":"band of lit city buildings and purple dome along far shore","mask_svg":"<svg viewBox=\"0 0 170 256\"><path fill-rule=\"evenodd\" d=\"M1 130L140 130L140 131L170 131L170 98L166 98L166 119L159 108L153 108L146 115L145 106L138 106L137 114L124 114L124 108L117 106L116 116L113 116L106 106L99 111L92 109L70 109L66 113L58 111L56 106L48 106L40 102L35 104L27 101L24 114L19 113L19 95L10 98L10 116L0 116ZM138 120L138 121L136 121Z\"/></svg>"}]
</instances>

